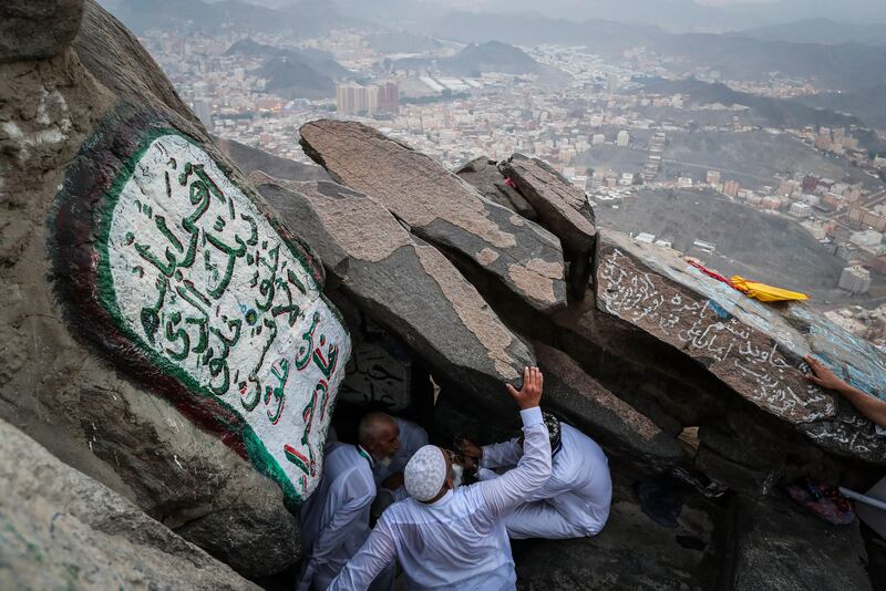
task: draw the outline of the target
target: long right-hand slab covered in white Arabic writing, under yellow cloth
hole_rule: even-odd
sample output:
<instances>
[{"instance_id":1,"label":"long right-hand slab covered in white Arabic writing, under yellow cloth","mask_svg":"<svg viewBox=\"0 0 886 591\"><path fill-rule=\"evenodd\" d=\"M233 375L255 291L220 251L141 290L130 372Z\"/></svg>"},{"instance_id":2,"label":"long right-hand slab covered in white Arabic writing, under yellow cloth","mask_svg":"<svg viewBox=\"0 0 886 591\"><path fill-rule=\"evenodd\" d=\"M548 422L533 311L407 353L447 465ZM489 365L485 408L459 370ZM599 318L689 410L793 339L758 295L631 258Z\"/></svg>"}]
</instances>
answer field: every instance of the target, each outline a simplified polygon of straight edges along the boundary
<instances>
[{"instance_id":1,"label":"long right-hand slab covered in white Arabic writing, under yellow cloth","mask_svg":"<svg viewBox=\"0 0 886 591\"><path fill-rule=\"evenodd\" d=\"M608 230L599 240L600 310L682 351L760 408L815 434L823 446L884 462L886 444L876 440L873 426L859 432L863 440L844 436L845 421L837 415L846 411L835 395L805 380L802 359L816 354L846 366L868 392L884 392L886 365L872 345L804 304L752 300L663 249Z\"/></svg>"}]
</instances>

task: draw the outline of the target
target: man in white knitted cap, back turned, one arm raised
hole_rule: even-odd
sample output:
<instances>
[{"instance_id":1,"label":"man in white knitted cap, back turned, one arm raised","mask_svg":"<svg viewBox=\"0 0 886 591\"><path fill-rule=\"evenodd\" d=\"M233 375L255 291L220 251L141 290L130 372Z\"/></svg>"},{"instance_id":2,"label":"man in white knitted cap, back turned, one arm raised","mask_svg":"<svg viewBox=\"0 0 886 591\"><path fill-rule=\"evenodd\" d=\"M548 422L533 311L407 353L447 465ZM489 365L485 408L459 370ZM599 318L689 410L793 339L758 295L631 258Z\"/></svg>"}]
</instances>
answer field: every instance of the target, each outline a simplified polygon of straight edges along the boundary
<instances>
[{"instance_id":1,"label":"man in white knitted cap, back turned, one arm raised","mask_svg":"<svg viewBox=\"0 0 886 591\"><path fill-rule=\"evenodd\" d=\"M504 519L550 476L550 444L538 403L542 372L526 367L523 388L507 390L521 407L524 453L517 467L494 480L453 491L450 454L426 445L406 464L411 498L390 506L359 552L329 587L367 589L394 558L406 589L516 589Z\"/></svg>"}]
</instances>

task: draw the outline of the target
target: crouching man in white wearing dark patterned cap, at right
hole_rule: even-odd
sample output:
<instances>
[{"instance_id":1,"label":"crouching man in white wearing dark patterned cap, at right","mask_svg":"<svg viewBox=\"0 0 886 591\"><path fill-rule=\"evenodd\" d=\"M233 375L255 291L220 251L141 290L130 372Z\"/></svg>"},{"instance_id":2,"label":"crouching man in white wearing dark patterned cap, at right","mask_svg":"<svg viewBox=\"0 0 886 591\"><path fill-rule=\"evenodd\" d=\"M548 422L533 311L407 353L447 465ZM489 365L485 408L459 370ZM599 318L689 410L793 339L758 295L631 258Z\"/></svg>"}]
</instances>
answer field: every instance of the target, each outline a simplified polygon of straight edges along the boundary
<instances>
[{"instance_id":1,"label":"crouching man in white wearing dark patterned cap, at right","mask_svg":"<svg viewBox=\"0 0 886 591\"><path fill-rule=\"evenodd\" d=\"M577 428L543 414L550 434L550 478L507 518L507 533L514 539L596 536L609 518L612 501L606 454ZM488 480L498 477L492 468L516 465L523 448L518 438L482 448L463 439L461 452L478 463L481 480Z\"/></svg>"}]
</instances>

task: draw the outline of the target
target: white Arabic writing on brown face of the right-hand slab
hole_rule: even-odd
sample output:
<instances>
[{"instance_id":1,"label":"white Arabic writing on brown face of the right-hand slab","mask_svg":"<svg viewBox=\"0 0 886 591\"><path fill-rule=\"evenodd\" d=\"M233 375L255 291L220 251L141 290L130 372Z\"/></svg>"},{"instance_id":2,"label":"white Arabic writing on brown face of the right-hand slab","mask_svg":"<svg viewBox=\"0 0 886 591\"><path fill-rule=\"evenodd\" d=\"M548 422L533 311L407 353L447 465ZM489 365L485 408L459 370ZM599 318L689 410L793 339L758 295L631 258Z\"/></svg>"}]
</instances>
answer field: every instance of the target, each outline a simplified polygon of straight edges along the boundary
<instances>
[{"instance_id":1,"label":"white Arabic writing on brown face of the right-hand slab","mask_svg":"<svg viewBox=\"0 0 886 591\"><path fill-rule=\"evenodd\" d=\"M598 277L607 312L684 350L759 406L792 423L835 414L833 397L806 384L776 341L717 302L641 271L617 248L602 258Z\"/></svg>"}]
</instances>

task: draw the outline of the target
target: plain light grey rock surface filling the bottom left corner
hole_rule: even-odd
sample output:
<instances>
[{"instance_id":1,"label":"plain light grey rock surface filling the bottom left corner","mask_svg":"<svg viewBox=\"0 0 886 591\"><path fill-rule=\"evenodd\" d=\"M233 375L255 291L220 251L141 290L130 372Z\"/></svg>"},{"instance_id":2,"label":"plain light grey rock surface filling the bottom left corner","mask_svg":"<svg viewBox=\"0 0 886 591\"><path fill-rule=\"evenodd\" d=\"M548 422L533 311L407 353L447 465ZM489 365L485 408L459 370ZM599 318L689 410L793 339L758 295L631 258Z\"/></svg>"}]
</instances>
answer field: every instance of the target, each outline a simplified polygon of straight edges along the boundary
<instances>
[{"instance_id":1,"label":"plain light grey rock surface filling the bottom left corner","mask_svg":"<svg viewBox=\"0 0 886 591\"><path fill-rule=\"evenodd\" d=\"M3 589L255 589L0 421Z\"/></svg>"}]
</instances>

